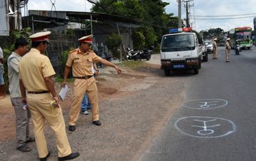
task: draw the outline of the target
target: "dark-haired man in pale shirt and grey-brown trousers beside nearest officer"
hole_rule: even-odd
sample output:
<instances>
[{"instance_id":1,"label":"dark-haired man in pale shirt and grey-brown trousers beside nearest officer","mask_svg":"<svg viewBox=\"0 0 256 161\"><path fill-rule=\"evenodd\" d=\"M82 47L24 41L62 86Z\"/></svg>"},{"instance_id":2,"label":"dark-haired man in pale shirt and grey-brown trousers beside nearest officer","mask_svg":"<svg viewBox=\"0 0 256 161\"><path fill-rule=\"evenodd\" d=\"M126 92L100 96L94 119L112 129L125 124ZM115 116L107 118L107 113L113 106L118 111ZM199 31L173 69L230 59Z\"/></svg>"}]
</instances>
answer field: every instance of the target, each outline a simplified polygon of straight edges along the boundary
<instances>
[{"instance_id":1,"label":"dark-haired man in pale shirt and grey-brown trousers beside nearest officer","mask_svg":"<svg viewBox=\"0 0 256 161\"><path fill-rule=\"evenodd\" d=\"M27 106L22 102L18 69L20 59L29 50L29 42L26 38L18 38L15 40L14 47L15 50L8 57L7 64L11 104L14 107L16 116L16 148L22 152L29 152L32 149L27 146L27 143L34 141L34 137L29 134L29 118L31 114L26 109Z\"/></svg>"}]
</instances>

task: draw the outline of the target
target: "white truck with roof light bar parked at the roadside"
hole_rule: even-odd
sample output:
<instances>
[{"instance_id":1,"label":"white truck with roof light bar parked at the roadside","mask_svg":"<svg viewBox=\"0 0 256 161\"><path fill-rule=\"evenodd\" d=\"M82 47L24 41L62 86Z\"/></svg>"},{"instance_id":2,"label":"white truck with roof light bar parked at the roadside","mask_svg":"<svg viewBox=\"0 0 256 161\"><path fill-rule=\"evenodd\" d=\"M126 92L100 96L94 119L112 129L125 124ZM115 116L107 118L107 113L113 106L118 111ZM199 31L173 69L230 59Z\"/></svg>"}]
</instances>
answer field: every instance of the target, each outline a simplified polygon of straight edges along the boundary
<instances>
[{"instance_id":1,"label":"white truck with roof light bar parked at the roadside","mask_svg":"<svg viewBox=\"0 0 256 161\"><path fill-rule=\"evenodd\" d=\"M201 69L203 51L198 44L198 38L195 33L184 32L184 30L188 29L162 37L161 69L166 76L170 74L170 71L190 69L198 74Z\"/></svg>"}]
</instances>

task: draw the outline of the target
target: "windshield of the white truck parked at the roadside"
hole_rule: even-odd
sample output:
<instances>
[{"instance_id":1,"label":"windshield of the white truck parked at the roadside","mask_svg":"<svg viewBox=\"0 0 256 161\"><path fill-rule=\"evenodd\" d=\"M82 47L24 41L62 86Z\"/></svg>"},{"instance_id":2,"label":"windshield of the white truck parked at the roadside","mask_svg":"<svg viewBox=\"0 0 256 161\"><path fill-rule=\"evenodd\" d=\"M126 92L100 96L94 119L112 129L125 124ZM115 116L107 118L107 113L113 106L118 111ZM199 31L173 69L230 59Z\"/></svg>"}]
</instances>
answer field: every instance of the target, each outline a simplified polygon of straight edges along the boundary
<instances>
[{"instance_id":1,"label":"windshield of the white truck parked at the roadside","mask_svg":"<svg viewBox=\"0 0 256 161\"><path fill-rule=\"evenodd\" d=\"M175 34L163 36L162 52L194 50L195 41L193 34Z\"/></svg>"}]
</instances>

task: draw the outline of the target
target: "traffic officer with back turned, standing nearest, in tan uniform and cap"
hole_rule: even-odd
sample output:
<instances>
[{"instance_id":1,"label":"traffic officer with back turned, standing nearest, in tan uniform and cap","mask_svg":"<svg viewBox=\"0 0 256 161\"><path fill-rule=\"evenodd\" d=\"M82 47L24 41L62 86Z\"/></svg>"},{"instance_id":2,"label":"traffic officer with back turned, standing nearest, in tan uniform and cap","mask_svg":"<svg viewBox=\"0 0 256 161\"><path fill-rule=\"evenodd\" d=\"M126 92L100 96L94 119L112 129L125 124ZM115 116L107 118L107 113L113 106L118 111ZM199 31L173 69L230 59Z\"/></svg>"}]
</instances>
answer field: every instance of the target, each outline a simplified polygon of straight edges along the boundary
<instances>
[{"instance_id":1,"label":"traffic officer with back turned, standing nearest, in tan uniform and cap","mask_svg":"<svg viewBox=\"0 0 256 161\"><path fill-rule=\"evenodd\" d=\"M48 57L42 55L48 47L49 35L50 31L45 31L29 36L32 40L32 49L19 63L20 91L22 101L27 102L32 114L34 137L40 160L47 160L50 156L43 133L45 120L55 133L58 160L72 160L77 158L79 153L72 153L69 146L62 109L58 104L58 94L52 79L55 71ZM55 106L51 107L50 102L53 100Z\"/></svg>"}]
</instances>

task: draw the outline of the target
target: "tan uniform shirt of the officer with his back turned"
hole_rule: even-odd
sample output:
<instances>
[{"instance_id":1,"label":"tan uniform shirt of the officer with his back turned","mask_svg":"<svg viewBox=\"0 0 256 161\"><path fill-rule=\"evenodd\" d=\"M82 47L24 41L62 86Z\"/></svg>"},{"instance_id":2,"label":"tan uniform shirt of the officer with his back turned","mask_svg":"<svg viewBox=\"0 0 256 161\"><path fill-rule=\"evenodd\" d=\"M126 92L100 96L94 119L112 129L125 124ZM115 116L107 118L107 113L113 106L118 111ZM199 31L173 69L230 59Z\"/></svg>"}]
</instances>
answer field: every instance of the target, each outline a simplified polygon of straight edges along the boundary
<instances>
[{"instance_id":1,"label":"tan uniform shirt of the officer with his back turned","mask_svg":"<svg viewBox=\"0 0 256 161\"><path fill-rule=\"evenodd\" d=\"M43 78L55 75L50 59L41 55L40 51L32 48L22 57L19 64L20 79L27 91L41 92L48 90Z\"/></svg>"}]
</instances>

